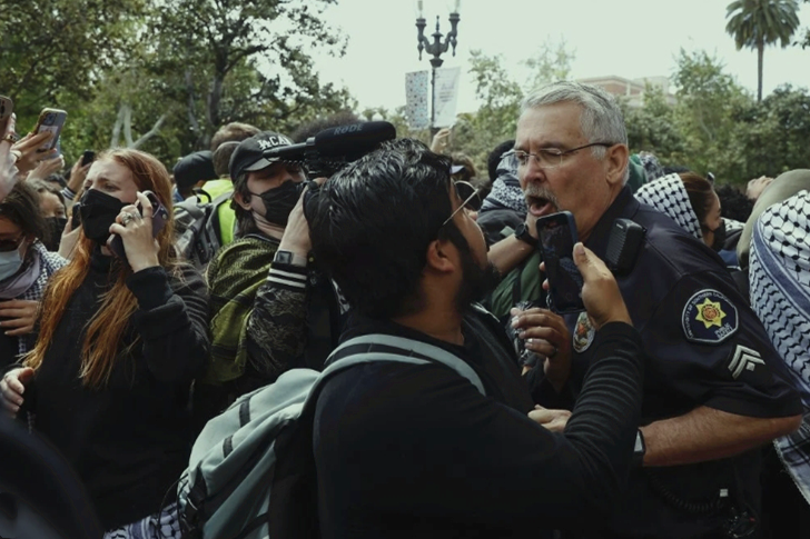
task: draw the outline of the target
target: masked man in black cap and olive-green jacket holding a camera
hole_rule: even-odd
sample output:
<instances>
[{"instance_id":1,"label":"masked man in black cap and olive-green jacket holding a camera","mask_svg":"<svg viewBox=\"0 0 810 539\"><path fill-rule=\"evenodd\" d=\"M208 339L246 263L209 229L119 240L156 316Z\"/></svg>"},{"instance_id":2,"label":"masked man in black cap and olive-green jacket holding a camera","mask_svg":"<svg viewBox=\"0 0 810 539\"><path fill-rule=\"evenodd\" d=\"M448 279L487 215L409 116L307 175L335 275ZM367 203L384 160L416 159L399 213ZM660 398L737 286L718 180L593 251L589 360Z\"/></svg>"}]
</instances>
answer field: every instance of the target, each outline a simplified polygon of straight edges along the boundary
<instances>
[{"instance_id":1,"label":"masked man in black cap and olive-green jacket holding a camera","mask_svg":"<svg viewBox=\"0 0 810 539\"><path fill-rule=\"evenodd\" d=\"M198 427L289 368L322 367L304 357L309 238L300 212L290 217L304 172L264 157L265 150L292 143L265 131L241 141L230 158L237 232L208 267L211 357L195 389ZM328 306L335 301L330 287L327 291ZM320 362L327 353L320 353Z\"/></svg>"}]
</instances>

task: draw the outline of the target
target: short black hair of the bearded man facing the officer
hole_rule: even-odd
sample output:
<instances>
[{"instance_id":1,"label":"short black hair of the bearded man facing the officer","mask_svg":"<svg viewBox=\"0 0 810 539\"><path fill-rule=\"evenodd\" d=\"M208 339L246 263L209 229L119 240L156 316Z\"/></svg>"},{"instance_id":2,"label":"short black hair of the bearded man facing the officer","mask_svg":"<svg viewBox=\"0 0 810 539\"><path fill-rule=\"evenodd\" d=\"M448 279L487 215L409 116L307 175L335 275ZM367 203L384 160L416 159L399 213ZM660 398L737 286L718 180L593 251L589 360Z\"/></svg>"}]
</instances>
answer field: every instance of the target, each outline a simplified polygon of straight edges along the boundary
<instances>
[{"instance_id":1,"label":"short black hair of the bearded man facing the officer","mask_svg":"<svg viewBox=\"0 0 810 539\"><path fill-rule=\"evenodd\" d=\"M452 213L450 168L448 157L419 141L393 140L308 197L315 259L357 312L391 319L418 311L431 241L470 248L452 221L442 226Z\"/></svg>"}]
</instances>

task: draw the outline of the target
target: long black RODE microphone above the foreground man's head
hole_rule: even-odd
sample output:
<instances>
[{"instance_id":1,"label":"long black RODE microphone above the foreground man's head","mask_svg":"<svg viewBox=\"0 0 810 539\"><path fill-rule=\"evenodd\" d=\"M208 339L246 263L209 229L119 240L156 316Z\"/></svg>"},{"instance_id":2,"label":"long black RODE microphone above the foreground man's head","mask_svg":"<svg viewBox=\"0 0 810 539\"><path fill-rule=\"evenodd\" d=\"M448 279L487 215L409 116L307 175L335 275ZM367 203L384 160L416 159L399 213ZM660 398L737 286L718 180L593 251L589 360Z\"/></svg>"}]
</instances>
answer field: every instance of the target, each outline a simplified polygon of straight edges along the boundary
<instances>
[{"instance_id":1,"label":"long black RODE microphone above the foreground man's head","mask_svg":"<svg viewBox=\"0 0 810 539\"><path fill-rule=\"evenodd\" d=\"M265 159L303 161L317 158L355 161L382 142L396 138L396 128L387 121L367 121L324 129L306 142L265 150Z\"/></svg>"}]
</instances>

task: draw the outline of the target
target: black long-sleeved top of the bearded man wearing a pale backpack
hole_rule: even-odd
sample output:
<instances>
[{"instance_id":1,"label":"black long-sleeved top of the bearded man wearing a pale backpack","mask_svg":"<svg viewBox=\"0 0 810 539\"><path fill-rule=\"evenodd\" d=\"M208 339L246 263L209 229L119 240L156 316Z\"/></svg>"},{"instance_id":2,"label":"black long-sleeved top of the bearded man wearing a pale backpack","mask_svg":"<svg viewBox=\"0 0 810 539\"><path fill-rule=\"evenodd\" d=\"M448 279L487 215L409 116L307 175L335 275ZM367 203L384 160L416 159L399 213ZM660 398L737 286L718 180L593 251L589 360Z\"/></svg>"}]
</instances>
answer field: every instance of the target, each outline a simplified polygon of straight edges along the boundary
<instances>
[{"instance_id":1,"label":"black long-sleeved top of the bearded man wearing a pale backpack","mask_svg":"<svg viewBox=\"0 0 810 539\"><path fill-rule=\"evenodd\" d=\"M338 375L315 423L327 520L350 529L369 513L413 513L539 530L605 518L631 466L643 356L623 323L602 328L594 345L564 433L443 367L373 363Z\"/></svg>"}]
</instances>

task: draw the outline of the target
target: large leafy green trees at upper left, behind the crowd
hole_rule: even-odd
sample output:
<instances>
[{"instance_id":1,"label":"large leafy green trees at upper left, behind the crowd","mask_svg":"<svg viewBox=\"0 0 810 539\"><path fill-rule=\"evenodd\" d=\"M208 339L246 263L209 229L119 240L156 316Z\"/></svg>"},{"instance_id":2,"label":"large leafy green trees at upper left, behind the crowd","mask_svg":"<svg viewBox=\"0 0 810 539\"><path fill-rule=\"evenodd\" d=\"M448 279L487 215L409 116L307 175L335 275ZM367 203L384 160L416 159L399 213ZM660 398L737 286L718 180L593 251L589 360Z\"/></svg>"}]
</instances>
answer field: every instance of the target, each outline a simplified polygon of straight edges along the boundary
<instances>
[{"instance_id":1,"label":"large leafy green trees at upper left, behind the crowd","mask_svg":"<svg viewBox=\"0 0 810 539\"><path fill-rule=\"evenodd\" d=\"M228 121L292 132L356 107L305 51L343 54L336 0L0 0L0 93L18 128L68 111L62 151L138 146L168 166Z\"/></svg>"}]
</instances>

